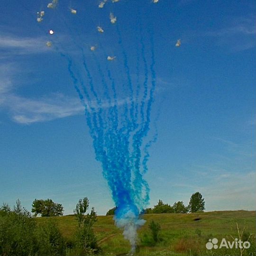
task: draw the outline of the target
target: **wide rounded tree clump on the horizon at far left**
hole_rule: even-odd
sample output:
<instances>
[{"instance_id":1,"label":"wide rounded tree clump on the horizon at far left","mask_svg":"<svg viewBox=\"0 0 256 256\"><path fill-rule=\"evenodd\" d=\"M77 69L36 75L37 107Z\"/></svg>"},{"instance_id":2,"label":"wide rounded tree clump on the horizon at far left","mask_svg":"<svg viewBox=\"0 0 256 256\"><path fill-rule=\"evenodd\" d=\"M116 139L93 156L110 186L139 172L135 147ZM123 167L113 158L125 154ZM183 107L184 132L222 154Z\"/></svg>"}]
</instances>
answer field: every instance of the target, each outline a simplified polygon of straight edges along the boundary
<instances>
[{"instance_id":1,"label":"wide rounded tree clump on the horizon at far left","mask_svg":"<svg viewBox=\"0 0 256 256\"><path fill-rule=\"evenodd\" d=\"M55 203L51 199L35 199L32 203L32 210L35 216L41 214L42 217L54 217L63 215L63 206Z\"/></svg>"}]
</instances>

